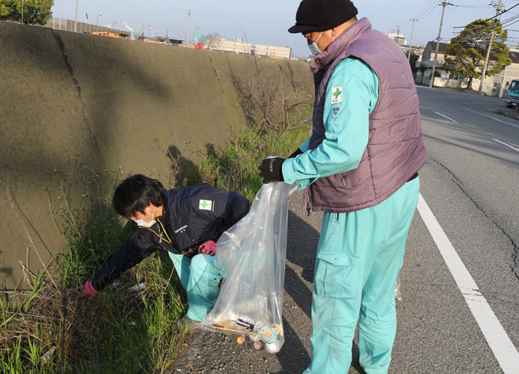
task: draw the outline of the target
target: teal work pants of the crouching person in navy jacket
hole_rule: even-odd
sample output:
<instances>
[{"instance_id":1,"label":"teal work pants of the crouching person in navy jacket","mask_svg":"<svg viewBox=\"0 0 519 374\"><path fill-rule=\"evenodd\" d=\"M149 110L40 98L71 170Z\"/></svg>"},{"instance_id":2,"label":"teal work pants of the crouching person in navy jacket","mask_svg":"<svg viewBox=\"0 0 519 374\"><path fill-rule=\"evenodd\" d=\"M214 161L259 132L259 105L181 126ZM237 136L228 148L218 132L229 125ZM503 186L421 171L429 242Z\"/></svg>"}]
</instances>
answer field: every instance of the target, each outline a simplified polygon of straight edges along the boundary
<instances>
[{"instance_id":1,"label":"teal work pants of the crouching person in navy jacket","mask_svg":"<svg viewBox=\"0 0 519 374\"><path fill-rule=\"evenodd\" d=\"M168 252L176 274L188 294L188 317L201 321L215 306L219 294L218 285L223 272L215 266L215 256L199 253L192 258Z\"/></svg>"}]
</instances>

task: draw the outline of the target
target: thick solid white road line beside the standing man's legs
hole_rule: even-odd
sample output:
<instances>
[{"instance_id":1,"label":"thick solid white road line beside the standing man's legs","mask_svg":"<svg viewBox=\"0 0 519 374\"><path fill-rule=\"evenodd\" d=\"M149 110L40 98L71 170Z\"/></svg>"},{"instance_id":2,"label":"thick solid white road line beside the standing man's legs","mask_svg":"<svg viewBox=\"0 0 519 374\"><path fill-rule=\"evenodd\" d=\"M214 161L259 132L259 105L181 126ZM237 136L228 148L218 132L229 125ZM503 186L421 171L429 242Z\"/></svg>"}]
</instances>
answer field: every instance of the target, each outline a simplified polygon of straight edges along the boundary
<instances>
[{"instance_id":1,"label":"thick solid white road line beside the standing man's legs","mask_svg":"<svg viewBox=\"0 0 519 374\"><path fill-rule=\"evenodd\" d=\"M489 303L484 296L477 291L477 285L471 274L468 273L461 258L455 251L453 244L441 229L435 216L430 211L424 197L420 194L418 211L424 220L432 239L435 241L441 256L453 274L457 287L470 308L477 324L489 344L495 358L498 360L504 374L519 374L519 353L501 323L493 314Z\"/></svg>"}]
</instances>

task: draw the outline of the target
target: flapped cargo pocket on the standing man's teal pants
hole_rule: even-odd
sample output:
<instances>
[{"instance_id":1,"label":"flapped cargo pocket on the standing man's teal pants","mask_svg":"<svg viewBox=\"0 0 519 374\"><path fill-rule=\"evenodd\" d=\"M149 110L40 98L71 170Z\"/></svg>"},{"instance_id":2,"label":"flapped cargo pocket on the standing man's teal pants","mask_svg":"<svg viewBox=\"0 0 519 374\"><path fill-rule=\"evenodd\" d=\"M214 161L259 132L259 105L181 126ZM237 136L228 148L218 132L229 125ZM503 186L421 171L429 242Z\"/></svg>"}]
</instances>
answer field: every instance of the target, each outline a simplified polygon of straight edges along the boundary
<instances>
[{"instance_id":1,"label":"flapped cargo pocket on the standing man's teal pants","mask_svg":"<svg viewBox=\"0 0 519 374\"><path fill-rule=\"evenodd\" d=\"M354 299L358 290L358 260L347 253L317 253L314 292L334 299Z\"/></svg>"}]
</instances>

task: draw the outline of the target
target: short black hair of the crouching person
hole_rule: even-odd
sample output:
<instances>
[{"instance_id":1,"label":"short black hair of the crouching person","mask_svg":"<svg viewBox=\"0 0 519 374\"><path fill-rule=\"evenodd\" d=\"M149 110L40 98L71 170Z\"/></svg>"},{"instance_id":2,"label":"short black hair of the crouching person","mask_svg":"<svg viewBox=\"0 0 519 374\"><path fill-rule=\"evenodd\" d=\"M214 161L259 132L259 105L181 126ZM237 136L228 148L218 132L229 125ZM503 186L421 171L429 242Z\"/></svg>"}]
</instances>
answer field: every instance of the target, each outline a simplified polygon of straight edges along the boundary
<instances>
[{"instance_id":1,"label":"short black hair of the crouching person","mask_svg":"<svg viewBox=\"0 0 519 374\"><path fill-rule=\"evenodd\" d=\"M154 206L164 205L164 187L156 179L142 174L132 175L116 188L112 202L113 208L124 217L129 217L136 212L144 214L149 203Z\"/></svg>"}]
</instances>

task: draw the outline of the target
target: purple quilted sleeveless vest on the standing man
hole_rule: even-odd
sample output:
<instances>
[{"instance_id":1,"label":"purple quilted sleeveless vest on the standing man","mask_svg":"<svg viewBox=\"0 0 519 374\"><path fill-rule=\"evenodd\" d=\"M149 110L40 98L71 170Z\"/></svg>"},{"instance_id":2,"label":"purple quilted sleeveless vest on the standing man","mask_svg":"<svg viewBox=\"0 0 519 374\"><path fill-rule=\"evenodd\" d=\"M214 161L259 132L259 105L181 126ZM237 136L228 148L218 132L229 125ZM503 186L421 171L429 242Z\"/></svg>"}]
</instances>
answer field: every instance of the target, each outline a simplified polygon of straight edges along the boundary
<instances>
[{"instance_id":1,"label":"purple quilted sleeveless vest on the standing man","mask_svg":"<svg viewBox=\"0 0 519 374\"><path fill-rule=\"evenodd\" d=\"M311 64L316 103L309 149L316 149L325 139L322 114L327 84L335 66L350 56L367 62L379 78L379 100L370 114L370 138L358 168L320 178L305 190L309 210L347 213L375 206L427 161L418 95L407 57L389 37L372 30L367 18L347 28Z\"/></svg>"}]
</instances>

